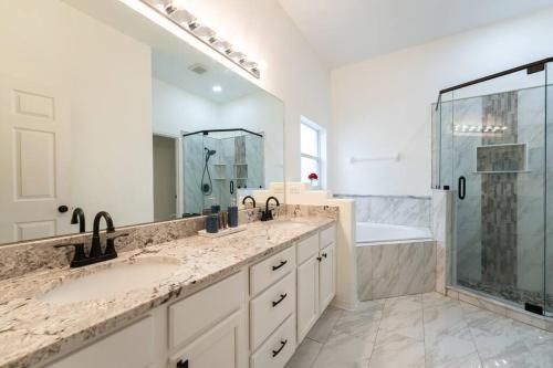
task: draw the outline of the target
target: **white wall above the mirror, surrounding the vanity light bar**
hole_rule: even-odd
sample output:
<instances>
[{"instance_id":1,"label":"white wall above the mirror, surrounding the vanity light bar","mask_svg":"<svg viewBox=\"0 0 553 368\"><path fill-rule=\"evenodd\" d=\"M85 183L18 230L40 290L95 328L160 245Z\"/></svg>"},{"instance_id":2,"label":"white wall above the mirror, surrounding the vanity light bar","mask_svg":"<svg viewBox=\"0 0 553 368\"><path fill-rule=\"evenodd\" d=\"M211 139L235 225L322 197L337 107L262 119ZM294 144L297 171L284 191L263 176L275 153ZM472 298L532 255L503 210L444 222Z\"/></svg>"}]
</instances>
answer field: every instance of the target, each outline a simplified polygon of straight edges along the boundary
<instances>
[{"instance_id":1,"label":"white wall above the mirror, surrounding the vanity light bar","mask_svg":"<svg viewBox=\"0 0 553 368\"><path fill-rule=\"evenodd\" d=\"M330 73L276 0L187 0L186 7L248 55L267 66L251 77L206 45L190 43L282 99L285 105L285 175L300 178L300 117L328 127Z\"/></svg>"}]
</instances>

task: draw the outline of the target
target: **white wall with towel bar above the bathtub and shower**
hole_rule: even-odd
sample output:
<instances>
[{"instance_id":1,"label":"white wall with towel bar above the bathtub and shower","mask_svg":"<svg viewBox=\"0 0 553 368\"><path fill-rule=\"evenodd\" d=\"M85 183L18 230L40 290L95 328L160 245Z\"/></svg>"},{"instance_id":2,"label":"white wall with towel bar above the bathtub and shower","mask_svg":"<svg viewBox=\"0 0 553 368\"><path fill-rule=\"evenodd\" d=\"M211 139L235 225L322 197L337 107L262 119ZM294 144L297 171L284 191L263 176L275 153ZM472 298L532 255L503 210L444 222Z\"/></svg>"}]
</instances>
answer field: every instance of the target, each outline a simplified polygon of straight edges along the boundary
<instances>
[{"instance_id":1,"label":"white wall with towel bar above the bathtub and shower","mask_svg":"<svg viewBox=\"0 0 553 368\"><path fill-rule=\"evenodd\" d=\"M442 88L553 56L553 10L480 28L332 72L330 188L430 194L430 104ZM400 154L398 162L349 158Z\"/></svg>"}]
</instances>

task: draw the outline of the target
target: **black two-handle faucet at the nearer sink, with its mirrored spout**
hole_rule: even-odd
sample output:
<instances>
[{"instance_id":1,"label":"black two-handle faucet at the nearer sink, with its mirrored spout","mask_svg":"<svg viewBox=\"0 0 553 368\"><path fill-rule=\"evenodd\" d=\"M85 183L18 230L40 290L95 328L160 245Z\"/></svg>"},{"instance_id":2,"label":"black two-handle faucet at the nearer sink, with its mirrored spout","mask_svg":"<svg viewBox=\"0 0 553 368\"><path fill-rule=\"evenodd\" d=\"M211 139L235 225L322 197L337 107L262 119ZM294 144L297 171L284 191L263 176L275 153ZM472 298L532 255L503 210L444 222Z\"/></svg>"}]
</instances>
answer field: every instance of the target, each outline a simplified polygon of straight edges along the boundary
<instances>
[{"instance_id":1,"label":"black two-handle faucet at the nearer sink, with its mirrored spout","mask_svg":"<svg viewBox=\"0 0 553 368\"><path fill-rule=\"evenodd\" d=\"M81 225L81 232L84 232L84 212L82 209L75 209L73 211L73 219L71 220L72 223L76 219L80 219L80 225ZM102 252L102 242L100 239L100 221L102 219L105 219L107 228L106 228L106 246L105 251ZM117 234L117 235L109 235L115 232L115 228L113 225L113 220L109 213L106 211L101 211L96 214L94 218L94 225L93 225L93 233L92 233L92 245L91 245L91 251L88 255L86 256L84 254L84 244L60 244L60 245L54 245L54 248L62 248L62 246L74 246L75 248L75 254L73 256L73 261L71 261L70 266L71 267L81 267L84 265L93 264L93 263L98 263L107 260L113 260L117 257L117 252L115 251L115 239L121 238L121 236L127 236L128 234Z\"/></svg>"}]
</instances>

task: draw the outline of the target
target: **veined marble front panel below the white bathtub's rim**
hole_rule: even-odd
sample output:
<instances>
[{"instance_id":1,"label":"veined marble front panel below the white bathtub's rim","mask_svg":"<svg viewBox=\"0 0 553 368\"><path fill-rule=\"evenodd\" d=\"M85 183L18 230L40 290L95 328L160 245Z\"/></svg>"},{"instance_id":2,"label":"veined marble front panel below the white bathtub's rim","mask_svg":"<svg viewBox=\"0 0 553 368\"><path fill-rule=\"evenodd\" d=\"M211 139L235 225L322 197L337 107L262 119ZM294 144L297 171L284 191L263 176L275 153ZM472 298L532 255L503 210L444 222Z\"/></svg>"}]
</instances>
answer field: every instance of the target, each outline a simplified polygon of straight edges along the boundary
<instances>
[{"instance_id":1,"label":"veined marble front panel below the white bathtub's rim","mask_svg":"<svg viewBox=\"0 0 553 368\"><path fill-rule=\"evenodd\" d=\"M357 246L359 301L420 294L436 287L436 242Z\"/></svg>"}]
</instances>

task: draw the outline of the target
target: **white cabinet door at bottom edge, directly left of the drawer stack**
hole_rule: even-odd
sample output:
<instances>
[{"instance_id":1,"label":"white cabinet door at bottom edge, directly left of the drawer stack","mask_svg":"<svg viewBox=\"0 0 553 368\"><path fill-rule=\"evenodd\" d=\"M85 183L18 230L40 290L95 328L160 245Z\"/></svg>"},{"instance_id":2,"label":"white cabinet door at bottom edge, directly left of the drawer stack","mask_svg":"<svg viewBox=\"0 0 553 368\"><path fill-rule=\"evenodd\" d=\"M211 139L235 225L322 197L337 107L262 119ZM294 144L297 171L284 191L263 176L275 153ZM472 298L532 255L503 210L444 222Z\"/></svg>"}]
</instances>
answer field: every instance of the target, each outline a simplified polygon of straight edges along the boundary
<instances>
[{"instance_id":1,"label":"white cabinet door at bottom edge, directly left of the drawer stack","mask_svg":"<svg viewBox=\"0 0 553 368\"><path fill-rule=\"evenodd\" d=\"M246 368L246 313L231 315L173 356L169 368Z\"/></svg>"}]
</instances>

